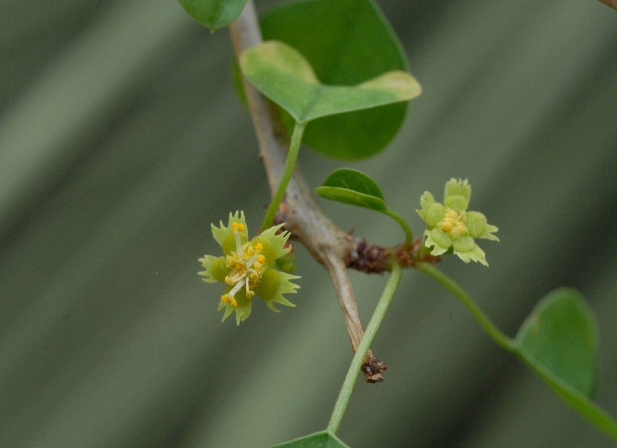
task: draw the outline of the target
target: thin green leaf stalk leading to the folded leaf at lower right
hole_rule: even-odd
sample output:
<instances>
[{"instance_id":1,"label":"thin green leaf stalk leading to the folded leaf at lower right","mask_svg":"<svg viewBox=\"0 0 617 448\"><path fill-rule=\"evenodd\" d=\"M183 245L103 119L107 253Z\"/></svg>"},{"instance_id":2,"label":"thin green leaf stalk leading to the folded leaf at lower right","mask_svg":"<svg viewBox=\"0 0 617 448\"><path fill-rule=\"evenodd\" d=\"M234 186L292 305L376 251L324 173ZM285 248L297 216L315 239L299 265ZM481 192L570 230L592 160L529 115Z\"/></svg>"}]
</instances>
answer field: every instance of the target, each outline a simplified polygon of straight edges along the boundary
<instances>
[{"instance_id":1,"label":"thin green leaf stalk leading to the folded leaf at lower right","mask_svg":"<svg viewBox=\"0 0 617 448\"><path fill-rule=\"evenodd\" d=\"M480 324L482 330L486 332L487 335L491 337L492 340L497 343L501 348L515 353L516 348L514 341L511 340L505 333L503 333L499 328L495 327L495 324L491 322L486 314L482 312L480 307L468 296L465 291L462 290L454 280L450 279L443 272L439 271L435 266L429 263L416 263L416 268L418 271L424 272L424 274L429 277L433 277L433 279L437 280L437 283L440 283L442 287L449 290L456 298L463 304L465 307L471 312L471 316L476 319L476 322Z\"/></svg>"}]
</instances>

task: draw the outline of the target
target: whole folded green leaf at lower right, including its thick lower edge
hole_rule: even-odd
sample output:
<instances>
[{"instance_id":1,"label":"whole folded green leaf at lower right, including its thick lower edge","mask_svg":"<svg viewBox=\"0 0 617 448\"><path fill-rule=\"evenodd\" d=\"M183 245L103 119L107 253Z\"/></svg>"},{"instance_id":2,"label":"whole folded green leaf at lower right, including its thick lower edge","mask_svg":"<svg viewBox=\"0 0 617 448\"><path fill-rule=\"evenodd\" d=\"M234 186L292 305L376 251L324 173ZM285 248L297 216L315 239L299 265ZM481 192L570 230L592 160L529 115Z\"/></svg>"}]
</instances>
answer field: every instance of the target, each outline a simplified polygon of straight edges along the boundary
<instances>
[{"instance_id":1,"label":"whole folded green leaf at lower right, including its thick lower edge","mask_svg":"<svg viewBox=\"0 0 617 448\"><path fill-rule=\"evenodd\" d=\"M617 441L617 422L595 404L598 336L581 294L560 288L545 296L513 341L514 353L563 401Z\"/></svg>"}]
</instances>

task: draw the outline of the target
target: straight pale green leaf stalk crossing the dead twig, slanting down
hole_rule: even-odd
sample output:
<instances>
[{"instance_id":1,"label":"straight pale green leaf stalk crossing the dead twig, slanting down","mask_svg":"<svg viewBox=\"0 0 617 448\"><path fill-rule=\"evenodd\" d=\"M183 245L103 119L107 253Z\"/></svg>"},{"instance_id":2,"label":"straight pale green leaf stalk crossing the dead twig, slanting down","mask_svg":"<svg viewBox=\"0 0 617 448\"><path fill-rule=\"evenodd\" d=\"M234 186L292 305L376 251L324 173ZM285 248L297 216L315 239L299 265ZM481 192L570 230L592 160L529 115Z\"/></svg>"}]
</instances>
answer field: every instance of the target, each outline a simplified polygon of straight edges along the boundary
<instances>
[{"instance_id":1,"label":"straight pale green leaf stalk crossing the dead twig, slanting down","mask_svg":"<svg viewBox=\"0 0 617 448\"><path fill-rule=\"evenodd\" d=\"M370 347L373 339L375 338L375 334L377 333L379 325L381 325L381 321L386 315L387 308L390 306L390 302L392 301L392 297L394 296L396 288L399 287L401 273L402 269L400 269L399 264L392 264L392 272L390 274L390 278L387 280L386 287L384 287L383 293L381 293L381 297L379 298L377 306L375 307L373 316L371 317L370 322L368 322L368 325L366 326L364 336L362 336L362 340L360 340L358 349L355 351L354 357L351 360L351 364L349 365L349 370L347 370L345 381L343 381L341 391L339 392L339 396L336 399L336 403L334 404L332 417L330 417L327 428L327 431L329 431L330 433L336 434L336 432L339 430L339 427L341 426L341 420L343 419L343 415L345 413L345 410L347 409L349 397L354 390L355 380L358 377L358 372L360 372L360 367L362 367L366 352L368 351L368 348Z\"/></svg>"}]
</instances>

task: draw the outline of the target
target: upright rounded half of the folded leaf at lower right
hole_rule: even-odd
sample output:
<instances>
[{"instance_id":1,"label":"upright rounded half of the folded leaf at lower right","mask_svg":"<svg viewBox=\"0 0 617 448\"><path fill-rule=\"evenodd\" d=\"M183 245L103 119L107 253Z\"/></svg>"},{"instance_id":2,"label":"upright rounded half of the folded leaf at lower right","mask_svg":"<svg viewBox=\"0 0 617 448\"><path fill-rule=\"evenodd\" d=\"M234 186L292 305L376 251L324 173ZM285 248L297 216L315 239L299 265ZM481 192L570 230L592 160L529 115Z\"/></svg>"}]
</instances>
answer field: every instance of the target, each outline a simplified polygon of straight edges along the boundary
<instances>
[{"instance_id":1,"label":"upright rounded half of the folded leaf at lower right","mask_svg":"<svg viewBox=\"0 0 617 448\"><path fill-rule=\"evenodd\" d=\"M594 315L577 290L560 288L540 300L515 343L555 377L592 396L598 336Z\"/></svg>"}]
</instances>

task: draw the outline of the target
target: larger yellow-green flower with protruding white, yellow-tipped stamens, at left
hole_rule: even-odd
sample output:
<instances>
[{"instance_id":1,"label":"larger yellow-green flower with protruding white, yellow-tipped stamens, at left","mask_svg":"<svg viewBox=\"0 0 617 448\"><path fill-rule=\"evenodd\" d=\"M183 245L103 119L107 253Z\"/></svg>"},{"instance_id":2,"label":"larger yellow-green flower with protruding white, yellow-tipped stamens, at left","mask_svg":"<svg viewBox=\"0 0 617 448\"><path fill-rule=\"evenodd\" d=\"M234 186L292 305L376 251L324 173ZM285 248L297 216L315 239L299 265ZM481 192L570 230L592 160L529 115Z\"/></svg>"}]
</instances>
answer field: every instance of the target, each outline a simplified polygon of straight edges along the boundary
<instances>
[{"instance_id":1,"label":"larger yellow-green flower with protruding white, yellow-tipped stamens, at left","mask_svg":"<svg viewBox=\"0 0 617 448\"><path fill-rule=\"evenodd\" d=\"M252 298L263 299L267 306L278 312L274 303L296 306L283 297L295 293L298 285L290 280L299 279L297 275L280 272L276 269L276 259L291 251L286 246L289 232L276 232L284 224L270 227L249 241L249 230L244 212L236 211L229 216L227 226L212 224L212 235L223 250L223 256L204 255L199 261L205 271L204 282L226 284L225 293L218 303L218 310L225 310L223 322L232 312L236 312L236 323L240 325L251 314Z\"/></svg>"}]
</instances>

